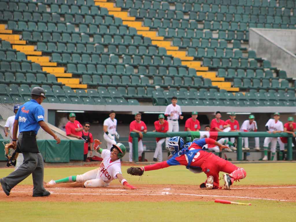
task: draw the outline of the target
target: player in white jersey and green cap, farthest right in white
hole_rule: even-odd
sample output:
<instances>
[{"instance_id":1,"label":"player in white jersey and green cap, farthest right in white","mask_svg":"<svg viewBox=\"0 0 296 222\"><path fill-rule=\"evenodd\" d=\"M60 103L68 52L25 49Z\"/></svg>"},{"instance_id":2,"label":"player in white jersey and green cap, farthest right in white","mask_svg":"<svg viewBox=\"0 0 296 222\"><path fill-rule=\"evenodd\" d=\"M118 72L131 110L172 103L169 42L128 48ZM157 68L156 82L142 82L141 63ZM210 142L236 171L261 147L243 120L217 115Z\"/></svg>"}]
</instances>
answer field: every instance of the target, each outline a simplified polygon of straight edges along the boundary
<instances>
[{"instance_id":1,"label":"player in white jersey and green cap, farthest right in white","mask_svg":"<svg viewBox=\"0 0 296 222\"><path fill-rule=\"evenodd\" d=\"M265 124L266 130L268 133L280 133L284 131L284 126L281 121L279 121L279 112L274 113L274 118L269 119L268 122ZM265 137L264 139L264 157L262 160L268 160L267 152L268 152L268 144L270 143L270 150L271 150L271 160L274 160L274 156L276 154L276 142L277 137Z\"/></svg>"}]
</instances>

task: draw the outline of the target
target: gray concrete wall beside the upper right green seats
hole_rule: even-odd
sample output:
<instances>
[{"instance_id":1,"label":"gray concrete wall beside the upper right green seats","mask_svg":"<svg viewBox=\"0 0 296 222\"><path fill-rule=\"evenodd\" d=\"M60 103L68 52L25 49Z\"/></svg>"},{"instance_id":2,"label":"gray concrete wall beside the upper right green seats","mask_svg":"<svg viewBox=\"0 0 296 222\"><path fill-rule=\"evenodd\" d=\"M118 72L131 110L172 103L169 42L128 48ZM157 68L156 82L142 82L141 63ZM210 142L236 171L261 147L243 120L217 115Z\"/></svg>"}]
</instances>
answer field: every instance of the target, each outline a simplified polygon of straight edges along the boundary
<instances>
[{"instance_id":1,"label":"gray concrete wall beside the upper right green seats","mask_svg":"<svg viewBox=\"0 0 296 222\"><path fill-rule=\"evenodd\" d=\"M249 33L249 46L257 57L296 78L296 30L250 28Z\"/></svg>"}]
</instances>

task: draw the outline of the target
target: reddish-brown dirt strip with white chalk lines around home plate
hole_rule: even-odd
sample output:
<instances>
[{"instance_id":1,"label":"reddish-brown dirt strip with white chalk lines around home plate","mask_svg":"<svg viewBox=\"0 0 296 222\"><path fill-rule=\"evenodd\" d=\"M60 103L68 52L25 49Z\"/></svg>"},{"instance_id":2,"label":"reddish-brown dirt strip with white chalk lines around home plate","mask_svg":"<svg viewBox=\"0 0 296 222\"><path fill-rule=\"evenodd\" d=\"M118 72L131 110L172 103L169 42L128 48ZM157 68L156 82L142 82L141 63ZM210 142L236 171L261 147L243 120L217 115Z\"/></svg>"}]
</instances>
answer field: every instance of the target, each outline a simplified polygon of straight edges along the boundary
<instances>
[{"instance_id":1,"label":"reddish-brown dirt strip with white chalk lines around home plate","mask_svg":"<svg viewBox=\"0 0 296 222\"><path fill-rule=\"evenodd\" d=\"M86 189L82 184L60 184L46 187L50 197L33 198L33 186L19 185L7 197L0 191L1 200L11 201L212 201L227 200L271 200L296 201L296 186L235 186L231 190L202 190L189 185L138 185L136 190L122 189L121 186ZM29 198L29 199L28 199Z\"/></svg>"}]
</instances>

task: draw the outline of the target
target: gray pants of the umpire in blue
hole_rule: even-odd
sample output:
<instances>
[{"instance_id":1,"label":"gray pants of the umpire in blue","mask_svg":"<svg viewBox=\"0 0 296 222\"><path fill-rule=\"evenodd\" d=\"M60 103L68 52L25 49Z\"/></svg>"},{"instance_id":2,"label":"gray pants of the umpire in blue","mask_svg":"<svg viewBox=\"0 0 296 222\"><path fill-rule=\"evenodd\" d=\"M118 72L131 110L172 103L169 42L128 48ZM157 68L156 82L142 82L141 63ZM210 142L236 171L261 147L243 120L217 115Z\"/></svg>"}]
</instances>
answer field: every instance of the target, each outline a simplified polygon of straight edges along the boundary
<instances>
[{"instance_id":1,"label":"gray pants of the umpire in blue","mask_svg":"<svg viewBox=\"0 0 296 222\"><path fill-rule=\"evenodd\" d=\"M19 145L22 142L22 135L18 138ZM43 176L44 165L41 153L22 152L24 162L17 170L4 177L4 182L12 189L18 183L27 178L31 173L33 177L33 194L40 194L44 192Z\"/></svg>"}]
</instances>

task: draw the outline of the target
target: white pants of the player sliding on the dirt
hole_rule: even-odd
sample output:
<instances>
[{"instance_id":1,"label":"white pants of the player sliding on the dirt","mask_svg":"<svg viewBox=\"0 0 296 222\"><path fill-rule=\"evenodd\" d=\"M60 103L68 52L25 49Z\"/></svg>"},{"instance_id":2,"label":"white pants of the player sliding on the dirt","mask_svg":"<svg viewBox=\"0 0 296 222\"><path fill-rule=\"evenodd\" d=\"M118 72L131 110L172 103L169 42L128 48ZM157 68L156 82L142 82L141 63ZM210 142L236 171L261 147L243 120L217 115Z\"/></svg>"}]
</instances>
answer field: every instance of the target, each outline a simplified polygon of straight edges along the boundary
<instances>
[{"instance_id":1,"label":"white pants of the player sliding on the dirt","mask_svg":"<svg viewBox=\"0 0 296 222\"><path fill-rule=\"evenodd\" d=\"M83 183L86 188L96 188L96 187L106 187L109 186L110 183L106 183L99 177L100 168L96 168L94 170L90 170L82 175L76 176L77 183Z\"/></svg>"}]
</instances>

